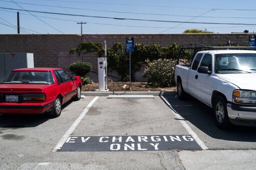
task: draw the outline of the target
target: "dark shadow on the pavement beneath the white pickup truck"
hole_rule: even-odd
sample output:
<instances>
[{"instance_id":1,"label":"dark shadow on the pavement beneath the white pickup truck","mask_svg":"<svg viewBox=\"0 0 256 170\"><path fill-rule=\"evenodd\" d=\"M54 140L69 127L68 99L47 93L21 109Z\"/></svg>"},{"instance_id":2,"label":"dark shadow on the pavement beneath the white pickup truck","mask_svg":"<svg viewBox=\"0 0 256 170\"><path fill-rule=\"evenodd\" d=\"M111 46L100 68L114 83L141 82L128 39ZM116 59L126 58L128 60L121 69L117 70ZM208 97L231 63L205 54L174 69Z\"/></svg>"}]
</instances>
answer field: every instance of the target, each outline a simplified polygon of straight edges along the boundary
<instances>
[{"instance_id":1,"label":"dark shadow on the pavement beneath the white pickup truck","mask_svg":"<svg viewBox=\"0 0 256 170\"><path fill-rule=\"evenodd\" d=\"M180 101L174 95L164 97L177 114L212 138L227 141L256 142L256 127L233 125L228 130L221 130L214 123L212 109L197 99L189 96L187 99Z\"/></svg>"}]
</instances>

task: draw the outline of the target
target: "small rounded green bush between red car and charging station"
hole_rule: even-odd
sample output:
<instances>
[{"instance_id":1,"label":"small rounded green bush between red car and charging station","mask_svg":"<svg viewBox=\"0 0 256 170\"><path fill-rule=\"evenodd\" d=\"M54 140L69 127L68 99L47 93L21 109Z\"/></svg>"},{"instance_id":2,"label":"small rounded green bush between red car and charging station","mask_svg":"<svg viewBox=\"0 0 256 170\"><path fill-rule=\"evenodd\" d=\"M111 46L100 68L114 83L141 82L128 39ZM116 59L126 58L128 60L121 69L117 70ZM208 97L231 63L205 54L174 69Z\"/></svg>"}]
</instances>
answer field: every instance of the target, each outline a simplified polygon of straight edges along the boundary
<instances>
[{"instance_id":1,"label":"small rounded green bush between red car and charging station","mask_svg":"<svg viewBox=\"0 0 256 170\"><path fill-rule=\"evenodd\" d=\"M69 70L75 75L84 77L89 71L91 71L92 65L87 62L78 61L69 65Z\"/></svg>"}]
</instances>

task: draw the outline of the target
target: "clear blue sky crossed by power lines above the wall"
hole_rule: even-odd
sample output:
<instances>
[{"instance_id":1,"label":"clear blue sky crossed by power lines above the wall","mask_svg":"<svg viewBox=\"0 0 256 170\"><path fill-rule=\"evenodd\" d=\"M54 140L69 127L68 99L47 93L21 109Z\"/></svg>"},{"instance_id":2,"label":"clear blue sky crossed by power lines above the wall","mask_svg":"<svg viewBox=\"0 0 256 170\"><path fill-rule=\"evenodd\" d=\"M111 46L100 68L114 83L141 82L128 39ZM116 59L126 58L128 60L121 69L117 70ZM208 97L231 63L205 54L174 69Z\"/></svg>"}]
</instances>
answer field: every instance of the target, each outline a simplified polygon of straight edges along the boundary
<instances>
[{"instance_id":1,"label":"clear blue sky crossed by power lines above the wall","mask_svg":"<svg viewBox=\"0 0 256 170\"><path fill-rule=\"evenodd\" d=\"M0 34L256 32L256 0L0 0Z\"/></svg>"}]
</instances>

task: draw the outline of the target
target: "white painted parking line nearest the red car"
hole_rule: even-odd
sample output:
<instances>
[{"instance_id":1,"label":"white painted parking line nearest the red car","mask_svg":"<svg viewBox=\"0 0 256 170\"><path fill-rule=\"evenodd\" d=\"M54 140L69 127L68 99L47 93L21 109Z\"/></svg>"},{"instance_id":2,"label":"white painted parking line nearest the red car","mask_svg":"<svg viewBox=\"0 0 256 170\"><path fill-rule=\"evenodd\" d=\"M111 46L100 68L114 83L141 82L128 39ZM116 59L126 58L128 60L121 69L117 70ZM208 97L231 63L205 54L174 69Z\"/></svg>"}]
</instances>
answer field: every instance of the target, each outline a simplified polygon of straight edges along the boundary
<instances>
[{"instance_id":1,"label":"white painted parking line nearest the red car","mask_svg":"<svg viewBox=\"0 0 256 170\"><path fill-rule=\"evenodd\" d=\"M72 134L73 130L76 128L76 126L80 123L82 118L86 115L89 108L93 105L93 103L98 99L98 96L94 97L94 99L86 106L86 108L83 110L83 112L80 114L80 116L74 121L74 123L69 127L69 129L66 131L66 133L62 136L62 138L59 140L55 148L52 150L52 152L56 152L60 150L62 145L65 143L67 138Z\"/></svg>"}]
</instances>

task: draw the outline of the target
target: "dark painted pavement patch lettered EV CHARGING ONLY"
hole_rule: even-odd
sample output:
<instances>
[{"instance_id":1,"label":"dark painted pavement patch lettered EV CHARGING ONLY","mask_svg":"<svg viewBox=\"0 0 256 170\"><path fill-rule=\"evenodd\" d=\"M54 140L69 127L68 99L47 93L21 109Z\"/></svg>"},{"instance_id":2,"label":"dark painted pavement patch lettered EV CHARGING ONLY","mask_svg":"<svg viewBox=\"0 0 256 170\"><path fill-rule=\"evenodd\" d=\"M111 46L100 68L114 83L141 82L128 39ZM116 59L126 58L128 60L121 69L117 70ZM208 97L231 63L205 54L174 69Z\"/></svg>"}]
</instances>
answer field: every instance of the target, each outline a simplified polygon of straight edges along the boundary
<instances>
[{"instance_id":1,"label":"dark painted pavement patch lettered EV CHARGING ONLY","mask_svg":"<svg viewBox=\"0 0 256 170\"><path fill-rule=\"evenodd\" d=\"M60 152L202 150L191 135L70 136Z\"/></svg>"}]
</instances>

